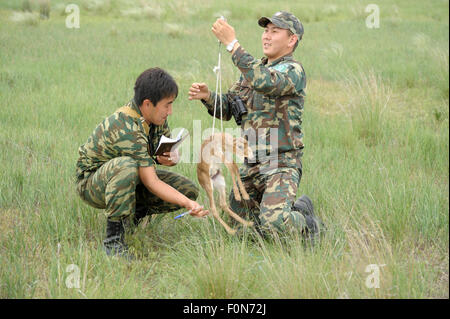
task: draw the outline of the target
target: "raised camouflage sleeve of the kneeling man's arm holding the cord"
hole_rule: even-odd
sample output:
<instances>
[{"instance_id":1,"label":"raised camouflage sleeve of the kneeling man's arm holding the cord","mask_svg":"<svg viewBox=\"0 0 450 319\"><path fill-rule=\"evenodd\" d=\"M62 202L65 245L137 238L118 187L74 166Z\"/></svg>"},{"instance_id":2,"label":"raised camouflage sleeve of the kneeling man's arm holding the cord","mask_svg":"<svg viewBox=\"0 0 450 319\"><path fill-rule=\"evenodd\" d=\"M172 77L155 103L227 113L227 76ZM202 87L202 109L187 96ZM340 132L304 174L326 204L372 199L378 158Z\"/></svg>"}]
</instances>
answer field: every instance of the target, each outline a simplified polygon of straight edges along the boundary
<instances>
[{"instance_id":1,"label":"raised camouflage sleeve of the kneeling man's arm holding the cord","mask_svg":"<svg viewBox=\"0 0 450 319\"><path fill-rule=\"evenodd\" d=\"M303 94L306 76L299 63L289 63L283 72L277 71L275 68L266 67L261 60L256 60L242 47L233 53L232 60L253 89L259 93L272 96Z\"/></svg>"}]
</instances>

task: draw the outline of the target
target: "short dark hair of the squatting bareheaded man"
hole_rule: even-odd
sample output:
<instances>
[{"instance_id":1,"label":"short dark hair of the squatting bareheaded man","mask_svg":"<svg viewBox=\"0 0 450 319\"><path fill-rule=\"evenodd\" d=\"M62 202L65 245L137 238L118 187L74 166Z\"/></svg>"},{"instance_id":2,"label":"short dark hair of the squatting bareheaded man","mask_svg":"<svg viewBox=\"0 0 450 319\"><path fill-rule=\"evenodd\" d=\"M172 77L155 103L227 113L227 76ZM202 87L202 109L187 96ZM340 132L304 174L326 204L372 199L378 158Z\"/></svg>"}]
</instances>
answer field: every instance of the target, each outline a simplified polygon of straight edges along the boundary
<instances>
[{"instance_id":1,"label":"short dark hair of the squatting bareheaded man","mask_svg":"<svg viewBox=\"0 0 450 319\"><path fill-rule=\"evenodd\" d=\"M154 106L167 97L178 96L178 85L169 73L150 68L139 75L134 85L134 101L138 106L149 99Z\"/></svg>"}]
</instances>

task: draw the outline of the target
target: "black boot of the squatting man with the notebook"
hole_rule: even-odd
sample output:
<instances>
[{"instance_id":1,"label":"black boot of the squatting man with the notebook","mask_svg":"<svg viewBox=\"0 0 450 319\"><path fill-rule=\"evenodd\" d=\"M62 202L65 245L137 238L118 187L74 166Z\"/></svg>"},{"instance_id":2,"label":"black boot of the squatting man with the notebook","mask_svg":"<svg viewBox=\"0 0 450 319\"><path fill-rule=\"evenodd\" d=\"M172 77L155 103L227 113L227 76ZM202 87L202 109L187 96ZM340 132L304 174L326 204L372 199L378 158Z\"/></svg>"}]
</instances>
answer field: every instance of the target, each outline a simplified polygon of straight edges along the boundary
<instances>
[{"instance_id":1,"label":"black boot of the squatting man with the notebook","mask_svg":"<svg viewBox=\"0 0 450 319\"><path fill-rule=\"evenodd\" d=\"M106 239L103 241L103 248L108 256L122 256L132 259L128 254L128 246L124 241L125 228L123 220L107 221L106 224Z\"/></svg>"}]
</instances>

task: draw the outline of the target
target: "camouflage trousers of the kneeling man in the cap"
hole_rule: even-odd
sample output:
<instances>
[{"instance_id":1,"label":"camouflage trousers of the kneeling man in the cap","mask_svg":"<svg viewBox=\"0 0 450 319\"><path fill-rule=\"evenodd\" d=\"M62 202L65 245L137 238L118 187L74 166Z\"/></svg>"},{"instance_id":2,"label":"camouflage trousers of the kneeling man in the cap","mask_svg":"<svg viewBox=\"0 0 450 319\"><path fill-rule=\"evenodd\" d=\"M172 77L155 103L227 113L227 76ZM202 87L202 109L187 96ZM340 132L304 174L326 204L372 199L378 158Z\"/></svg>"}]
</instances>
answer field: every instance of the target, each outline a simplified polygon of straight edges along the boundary
<instances>
[{"instance_id":1,"label":"camouflage trousers of the kneeling man in the cap","mask_svg":"<svg viewBox=\"0 0 450 319\"><path fill-rule=\"evenodd\" d=\"M237 201L230 193L230 208L241 217L253 220L263 233L302 232L305 217L292 210L302 177L302 168L263 169L242 165L240 177L250 201Z\"/></svg>"}]
</instances>

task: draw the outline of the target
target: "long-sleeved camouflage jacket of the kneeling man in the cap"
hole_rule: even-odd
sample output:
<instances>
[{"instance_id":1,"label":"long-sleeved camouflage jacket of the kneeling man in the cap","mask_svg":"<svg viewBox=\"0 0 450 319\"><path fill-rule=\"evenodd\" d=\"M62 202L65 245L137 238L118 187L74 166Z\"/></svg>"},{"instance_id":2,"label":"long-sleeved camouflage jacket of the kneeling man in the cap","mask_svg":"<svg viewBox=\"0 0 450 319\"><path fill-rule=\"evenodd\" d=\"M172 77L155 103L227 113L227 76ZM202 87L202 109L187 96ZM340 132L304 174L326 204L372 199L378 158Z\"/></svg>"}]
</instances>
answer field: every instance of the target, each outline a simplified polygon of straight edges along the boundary
<instances>
[{"instance_id":1,"label":"long-sleeved camouflage jacket of the kneeling man in the cap","mask_svg":"<svg viewBox=\"0 0 450 319\"><path fill-rule=\"evenodd\" d=\"M280 167L299 167L302 156L302 111L306 88L306 75L302 65L286 55L267 65L267 58L256 60L242 47L232 56L241 71L240 79L222 94L222 117L232 117L231 102L238 95L247 106L241 128L247 136L253 153L249 163L267 162L269 156L278 159ZM216 92L202 100L213 115ZM219 100L216 117L220 118ZM272 129L272 130L271 130ZM275 134L278 133L278 134ZM257 135L255 138L251 135ZM271 135L272 140L271 140Z\"/></svg>"}]
</instances>

